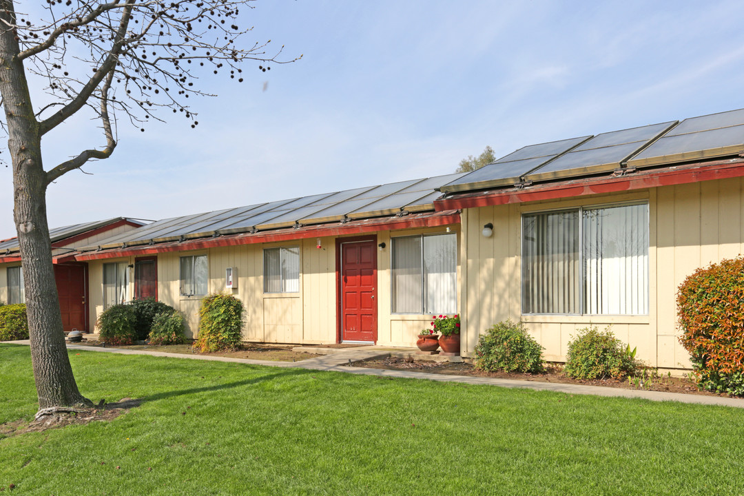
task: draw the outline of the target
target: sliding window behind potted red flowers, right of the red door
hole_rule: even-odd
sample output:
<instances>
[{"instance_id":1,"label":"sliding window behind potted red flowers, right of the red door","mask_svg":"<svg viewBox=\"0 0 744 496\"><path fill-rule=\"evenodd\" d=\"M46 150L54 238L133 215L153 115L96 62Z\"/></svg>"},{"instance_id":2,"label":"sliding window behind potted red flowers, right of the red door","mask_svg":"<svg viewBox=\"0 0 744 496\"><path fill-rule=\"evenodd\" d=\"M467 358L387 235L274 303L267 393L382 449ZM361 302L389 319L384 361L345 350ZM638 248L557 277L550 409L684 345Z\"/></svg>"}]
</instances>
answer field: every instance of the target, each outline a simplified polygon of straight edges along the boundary
<instances>
[{"instance_id":1,"label":"sliding window behind potted red flowers, right of the red door","mask_svg":"<svg viewBox=\"0 0 744 496\"><path fill-rule=\"evenodd\" d=\"M457 235L405 236L391 244L392 311L457 312Z\"/></svg>"}]
</instances>

